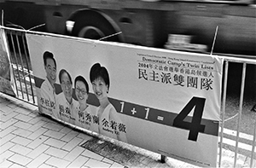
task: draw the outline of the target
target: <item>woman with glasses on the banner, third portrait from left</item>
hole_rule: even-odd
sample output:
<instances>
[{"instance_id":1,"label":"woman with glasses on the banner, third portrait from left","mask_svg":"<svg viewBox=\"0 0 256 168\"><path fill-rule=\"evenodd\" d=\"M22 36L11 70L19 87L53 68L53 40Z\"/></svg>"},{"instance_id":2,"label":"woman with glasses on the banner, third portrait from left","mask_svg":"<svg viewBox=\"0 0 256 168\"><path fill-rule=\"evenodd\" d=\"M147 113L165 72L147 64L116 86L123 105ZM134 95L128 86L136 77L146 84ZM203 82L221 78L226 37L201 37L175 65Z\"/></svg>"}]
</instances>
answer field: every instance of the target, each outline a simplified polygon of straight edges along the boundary
<instances>
[{"instance_id":1,"label":"woman with glasses on the banner, third portrait from left","mask_svg":"<svg viewBox=\"0 0 256 168\"><path fill-rule=\"evenodd\" d=\"M78 76L74 80L74 86L75 95L79 101L79 106L76 107L76 111L74 113L75 125L86 130L90 130L90 123L93 122L95 107L87 104L87 99L89 97L88 83L84 77Z\"/></svg>"}]
</instances>

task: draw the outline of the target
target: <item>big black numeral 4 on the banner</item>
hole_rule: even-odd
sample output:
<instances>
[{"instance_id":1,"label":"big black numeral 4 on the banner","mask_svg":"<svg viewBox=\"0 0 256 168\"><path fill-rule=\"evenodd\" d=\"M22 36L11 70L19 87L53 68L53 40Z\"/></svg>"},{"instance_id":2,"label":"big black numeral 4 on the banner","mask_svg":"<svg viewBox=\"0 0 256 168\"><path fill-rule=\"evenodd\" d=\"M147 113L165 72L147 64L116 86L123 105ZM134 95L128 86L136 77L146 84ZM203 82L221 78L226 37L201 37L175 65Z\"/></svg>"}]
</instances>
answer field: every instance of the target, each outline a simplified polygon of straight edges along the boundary
<instances>
[{"instance_id":1,"label":"big black numeral 4 on the banner","mask_svg":"<svg viewBox=\"0 0 256 168\"><path fill-rule=\"evenodd\" d=\"M201 117L205 107L205 98L193 97L189 103L183 107L183 110L177 114L177 117L173 120L173 126L177 128L182 128L189 131L189 140L197 140L199 132L204 132L206 125L201 125ZM184 119L189 115L192 109L195 107L192 121L184 121Z\"/></svg>"}]
</instances>

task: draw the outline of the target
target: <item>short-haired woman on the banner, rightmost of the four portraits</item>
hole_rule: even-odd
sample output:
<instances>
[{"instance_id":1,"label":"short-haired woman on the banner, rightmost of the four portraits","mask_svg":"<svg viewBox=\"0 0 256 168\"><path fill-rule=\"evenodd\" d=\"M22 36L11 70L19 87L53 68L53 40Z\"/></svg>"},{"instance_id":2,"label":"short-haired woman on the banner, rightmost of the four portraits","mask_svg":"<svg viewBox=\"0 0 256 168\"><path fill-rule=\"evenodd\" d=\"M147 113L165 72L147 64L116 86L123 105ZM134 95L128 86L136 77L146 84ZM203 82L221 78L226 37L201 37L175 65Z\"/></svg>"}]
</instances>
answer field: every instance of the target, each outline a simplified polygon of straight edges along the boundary
<instances>
[{"instance_id":1,"label":"short-haired woman on the banner, rightmost of the four portraits","mask_svg":"<svg viewBox=\"0 0 256 168\"><path fill-rule=\"evenodd\" d=\"M98 127L100 134L127 142L125 123L119 119L119 113L108 100L110 82L107 69L99 63L94 64L90 68L90 83L100 102L100 106L96 108L96 122L92 123L91 129Z\"/></svg>"}]
</instances>

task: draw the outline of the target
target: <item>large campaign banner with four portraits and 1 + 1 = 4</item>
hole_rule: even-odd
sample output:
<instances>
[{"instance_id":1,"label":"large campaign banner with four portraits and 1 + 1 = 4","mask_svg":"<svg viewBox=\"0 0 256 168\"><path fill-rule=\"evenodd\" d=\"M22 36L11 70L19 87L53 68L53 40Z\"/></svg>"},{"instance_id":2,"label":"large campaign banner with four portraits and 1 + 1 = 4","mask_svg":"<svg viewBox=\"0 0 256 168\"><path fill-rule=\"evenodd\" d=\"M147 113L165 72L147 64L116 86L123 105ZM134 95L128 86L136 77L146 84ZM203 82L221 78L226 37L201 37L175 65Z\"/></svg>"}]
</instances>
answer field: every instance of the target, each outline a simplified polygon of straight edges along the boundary
<instances>
[{"instance_id":1,"label":"large campaign banner with four portraits and 1 + 1 = 4","mask_svg":"<svg viewBox=\"0 0 256 168\"><path fill-rule=\"evenodd\" d=\"M35 32L26 39L40 113L216 166L221 58Z\"/></svg>"}]
</instances>

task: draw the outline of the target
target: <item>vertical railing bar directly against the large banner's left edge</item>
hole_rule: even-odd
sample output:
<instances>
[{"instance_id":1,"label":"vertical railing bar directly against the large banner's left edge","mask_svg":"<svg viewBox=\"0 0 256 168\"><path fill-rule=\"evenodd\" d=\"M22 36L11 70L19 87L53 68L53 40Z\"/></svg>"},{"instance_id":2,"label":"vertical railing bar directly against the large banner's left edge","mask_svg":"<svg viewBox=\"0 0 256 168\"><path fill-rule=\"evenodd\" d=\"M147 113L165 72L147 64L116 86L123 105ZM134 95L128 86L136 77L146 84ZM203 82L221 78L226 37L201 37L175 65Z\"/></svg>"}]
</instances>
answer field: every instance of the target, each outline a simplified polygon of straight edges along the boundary
<instances>
[{"instance_id":1,"label":"vertical railing bar directly against the large banner's left edge","mask_svg":"<svg viewBox=\"0 0 256 168\"><path fill-rule=\"evenodd\" d=\"M31 93L32 93L32 101L33 103L35 103L35 98L34 98L34 91L33 91L33 85L32 85L32 81L31 81L31 78L32 78L32 75L31 75L31 71L30 71L30 67L31 65L28 63L31 62L30 61L30 57L29 57L29 53L28 51L26 50L26 37L25 37L25 33L22 33L21 34L21 37L22 37L22 43L23 43L23 48L24 48L24 52L25 52L25 59L26 59L26 67L27 67L27 72L28 72L28 77L29 77L29 83L30 83L30 87L31 87Z\"/></svg>"}]
</instances>

